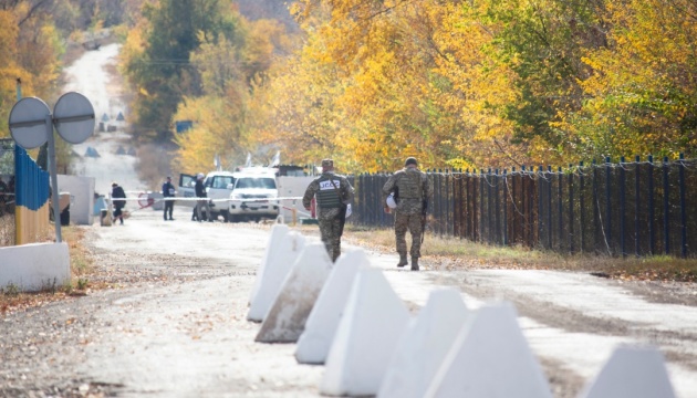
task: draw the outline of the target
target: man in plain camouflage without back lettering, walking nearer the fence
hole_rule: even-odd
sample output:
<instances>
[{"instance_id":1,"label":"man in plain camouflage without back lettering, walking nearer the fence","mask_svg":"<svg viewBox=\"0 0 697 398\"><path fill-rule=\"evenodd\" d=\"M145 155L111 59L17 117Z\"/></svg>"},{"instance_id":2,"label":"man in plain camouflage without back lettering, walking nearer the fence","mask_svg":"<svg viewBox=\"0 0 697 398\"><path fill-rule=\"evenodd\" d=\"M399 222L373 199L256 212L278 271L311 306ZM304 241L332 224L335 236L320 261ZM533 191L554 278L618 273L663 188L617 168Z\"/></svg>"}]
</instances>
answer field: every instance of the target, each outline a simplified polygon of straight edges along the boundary
<instances>
[{"instance_id":1,"label":"man in plain camouflage without back lettering, walking nearer the fence","mask_svg":"<svg viewBox=\"0 0 697 398\"><path fill-rule=\"evenodd\" d=\"M433 191L434 188L428 176L418 169L418 163L413 157L407 158L404 168L392 175L383 186L385 212L391 210L386 202L389 193L395 193L397 201L395 209L395 237L397 253L399 253L397 266L408 264L406 258L406 232L408 230L412 233L412 271L418 271L426 203Z\"/></svg>"}]
</instances>

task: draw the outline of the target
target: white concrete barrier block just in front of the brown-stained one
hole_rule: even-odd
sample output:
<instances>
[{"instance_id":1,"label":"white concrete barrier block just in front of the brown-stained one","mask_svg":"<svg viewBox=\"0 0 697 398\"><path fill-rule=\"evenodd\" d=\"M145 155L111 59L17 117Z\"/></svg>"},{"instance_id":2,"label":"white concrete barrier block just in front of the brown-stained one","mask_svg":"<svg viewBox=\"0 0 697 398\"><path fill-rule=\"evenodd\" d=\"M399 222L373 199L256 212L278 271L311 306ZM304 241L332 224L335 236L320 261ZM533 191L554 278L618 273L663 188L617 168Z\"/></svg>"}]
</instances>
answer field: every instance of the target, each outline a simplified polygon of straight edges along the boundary
<instances>
[{"instance_id":1,"label":"white concrete barrier block just in front of the brown-stained one","mask_svg":"<svg viewBox=\"0 0 697 398\"><path fill-rule=\"evenodd\" d=\"M324 364L329 354L339 321L346 306L351 285L358 270L371 263L361 249L342 254L336 259L326 283L318 296L305 331L298 339L295 359L300 364Z\"/></svg>"}]
</instances>

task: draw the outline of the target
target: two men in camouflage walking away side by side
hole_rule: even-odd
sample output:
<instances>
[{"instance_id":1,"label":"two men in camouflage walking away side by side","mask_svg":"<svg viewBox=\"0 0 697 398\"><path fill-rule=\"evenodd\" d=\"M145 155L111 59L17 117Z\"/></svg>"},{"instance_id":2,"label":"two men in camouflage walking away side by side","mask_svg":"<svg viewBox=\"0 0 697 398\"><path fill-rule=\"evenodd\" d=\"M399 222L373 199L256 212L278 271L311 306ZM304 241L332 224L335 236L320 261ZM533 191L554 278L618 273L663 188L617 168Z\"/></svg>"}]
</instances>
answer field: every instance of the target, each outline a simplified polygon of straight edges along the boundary
<instances>
[{"instance_id":1,"label":"two men in camouflage walking away side by side","mask_svg":"<svg viewBox=\"0 0 697 398\"><path fill-rule=\"evenodd\" d=\"M302 203L311 209L315 198L320 235L326 251L336 261L341 254L341 237L346 221L347 205L353 200L354 190L346 177L334 172L334 160L322 160L322 175L308 186ZM422 241L428 199L433 196L433 185L427 175L418 169L418 161L409 157L404 168L392 175L382 189L384 211L395 217L395 240L399 254L398 268L409 264L407 260L407 231L412 235L412 271L418 271L422 256ZM389 199L389 200L388 200Z\"/></svg>"}]
</instances>

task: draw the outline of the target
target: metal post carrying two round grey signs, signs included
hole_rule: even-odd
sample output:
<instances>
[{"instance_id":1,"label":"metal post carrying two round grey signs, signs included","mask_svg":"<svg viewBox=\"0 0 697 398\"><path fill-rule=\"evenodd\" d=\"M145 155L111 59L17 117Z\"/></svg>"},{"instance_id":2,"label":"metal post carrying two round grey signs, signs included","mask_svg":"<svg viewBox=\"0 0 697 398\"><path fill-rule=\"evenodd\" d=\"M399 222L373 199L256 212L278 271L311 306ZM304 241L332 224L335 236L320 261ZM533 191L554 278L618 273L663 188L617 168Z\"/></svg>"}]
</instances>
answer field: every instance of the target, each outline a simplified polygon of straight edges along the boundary
<instances>
[{"instance_id":1,"label":"metal post carrying two round grey signs, signs included","mask_svg":"<svg viewBox=\"0 0 697 398\"><path fill-rule=\"evenodd\" d=\"M49 172L53 186L53 220L55 241L61 242L61 221L59 209L58 167L55 164L55 139L53 125L59 135L70 144L80 144L94 133L94 108L92 103L80 93L63 94L53 107L37 97L18 101L10 112L10 133L14 142L24 149L32 149L49 142Z\"/></svg>"}]
</instances>

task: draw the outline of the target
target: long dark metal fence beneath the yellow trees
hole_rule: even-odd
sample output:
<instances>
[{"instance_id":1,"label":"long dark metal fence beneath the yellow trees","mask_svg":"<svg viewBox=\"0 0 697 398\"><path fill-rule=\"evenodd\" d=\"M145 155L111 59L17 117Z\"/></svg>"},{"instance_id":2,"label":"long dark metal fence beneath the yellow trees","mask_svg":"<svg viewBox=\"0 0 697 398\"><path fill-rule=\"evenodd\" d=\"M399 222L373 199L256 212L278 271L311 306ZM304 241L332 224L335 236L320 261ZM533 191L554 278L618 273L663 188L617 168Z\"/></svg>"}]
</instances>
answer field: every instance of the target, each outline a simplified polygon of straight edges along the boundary
<instances>
[{"instance_id":1,"label":"long dark metal fence beneath the yellow trees","mask_svg":"<svg viewBox=\"0 0 697 398\"><path fill-rule=\"evenodd\" d=\"M429 229L439 235L564 253L697 256L697 160L428 170ZM358 175L352 223L393 226L388 175Z\"/></svg>"}]
</instances>

